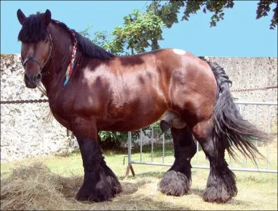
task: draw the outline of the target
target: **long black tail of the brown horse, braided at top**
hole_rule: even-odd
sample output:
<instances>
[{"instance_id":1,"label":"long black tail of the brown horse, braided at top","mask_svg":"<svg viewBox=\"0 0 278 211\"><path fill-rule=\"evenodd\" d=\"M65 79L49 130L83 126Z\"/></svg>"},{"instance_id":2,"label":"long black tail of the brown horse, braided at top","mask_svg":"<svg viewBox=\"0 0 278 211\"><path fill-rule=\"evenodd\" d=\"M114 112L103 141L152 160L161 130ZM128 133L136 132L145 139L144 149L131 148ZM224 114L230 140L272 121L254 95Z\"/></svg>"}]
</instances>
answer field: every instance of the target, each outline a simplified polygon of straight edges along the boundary
<instances>
[{"instance_id":1,"label":"long black tail of the brown horse, braided at top","mask_svg":"<svg viewBox=\"0 0 278 211\"><path fill-rule=\"evenodd\" d=\"M211 66L218 84L218 95L213 112L213 142L217 144L218 140L222 140L229 155L235 159L236 152L231 146L235 146L240 153L255 162L256 154L261 155L261 153L250 141L267 140L268 134L257 129L240 115L229 90L231 81L224 69L216 62L208 62L208 65ZM264 158L263 155L261 156Z\"/></svg>"}]
</instances>

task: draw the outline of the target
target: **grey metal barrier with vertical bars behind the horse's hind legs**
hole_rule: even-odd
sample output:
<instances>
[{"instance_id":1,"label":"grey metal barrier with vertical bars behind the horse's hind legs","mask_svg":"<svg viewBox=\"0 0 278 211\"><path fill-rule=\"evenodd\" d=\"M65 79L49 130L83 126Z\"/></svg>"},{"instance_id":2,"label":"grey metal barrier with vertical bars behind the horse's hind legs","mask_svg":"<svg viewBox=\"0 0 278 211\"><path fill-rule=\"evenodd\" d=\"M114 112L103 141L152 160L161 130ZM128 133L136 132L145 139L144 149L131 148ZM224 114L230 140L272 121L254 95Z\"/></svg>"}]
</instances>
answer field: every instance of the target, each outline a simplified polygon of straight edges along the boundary
<instances>
[{"instance_id":1,"label":"grey metal barrier with vertical bars behind the horse's hind legs","mask_svg":"<svg viewBox=\"0 0 278 211\"><path fill-rule=\"evenodd\" d=\"M261 130L267 133L276 133L277 137L277 103L273 102L245 102L245 101L236 101L236 105L240 111L240 114L243 115L244 119L249 120L252 124L255 124ZM272 128L271 128L272 126ZM274 131L271 131L274 130ZM172 156L172 162L167 162L165 160L165 134L161 135L161 161L154 160L154 130L152 127L152 135L151 135L151 149L149 151L149 155L147 157L149 159L143 159L142 154L142 129L140 130L140 153L138 158L133 158L131 154L131 132L128 133L128 155L124 156L124 159L128 158L128 167L126 169L126 176L129 175L129 170L131 170L133 176L134 170L132 164L147 164L147 165L159 165L159 166L169 166L171 167L174 162L174 156ZM270 160L270 142L266 142L266 146L261 146L261 143L254 141L255 145L259 147L259 151L265 156L266 160L256 160L257 167L253 163L247 162L247 158L243 157L240 163L235 162L232 158L229 158L227 162L229 162L229 168L233 171L256 171L256 172L268 172L268 173L277 173L277 159L274 160L276 164L272 164ZM274 141L277 143L277 139ZM191 164L195 169L209 169L209 162L206 160L201 146L198 142L197 144L197 153L191 160ZM260 150L261 149L261 150ZM277 158L277 146L275 149L272 148L275 154L275 158ZM174 151L174 149L172 149ZM146 157L146 155L145 155ZM169 157L169 156L168 156ZM204 159L206 162L204 162ZM261 163L262 162L262 163ZM276 167L273 167L276 165Z\"/></svg>"}]
</instances>

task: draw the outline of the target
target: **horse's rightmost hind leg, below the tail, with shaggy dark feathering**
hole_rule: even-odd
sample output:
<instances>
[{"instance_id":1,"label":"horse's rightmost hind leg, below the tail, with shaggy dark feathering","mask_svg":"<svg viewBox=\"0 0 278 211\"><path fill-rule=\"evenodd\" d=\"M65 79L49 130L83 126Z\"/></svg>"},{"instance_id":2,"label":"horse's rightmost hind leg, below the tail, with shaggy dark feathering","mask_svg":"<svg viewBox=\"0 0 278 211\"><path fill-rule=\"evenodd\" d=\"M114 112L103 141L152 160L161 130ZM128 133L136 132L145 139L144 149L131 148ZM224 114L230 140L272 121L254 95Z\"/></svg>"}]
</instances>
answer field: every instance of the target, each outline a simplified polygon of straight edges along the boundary
<instances>
[{"instance_id":1,"label":"horse's rightmost hind leg, below the tail, with shaggy dark feathering","mask_svg":"<svg viewBox=\"0 0 278 211\"><path fill-rule=\"evenodd\" d=\"M210 173L203 199L208 202L224 203L236 196L234 173L224 160L225 146L218 137L213 137L211 121L202 121L193 127L193 134L199 141L210 162Z\"/></svg>"}]
</instances>

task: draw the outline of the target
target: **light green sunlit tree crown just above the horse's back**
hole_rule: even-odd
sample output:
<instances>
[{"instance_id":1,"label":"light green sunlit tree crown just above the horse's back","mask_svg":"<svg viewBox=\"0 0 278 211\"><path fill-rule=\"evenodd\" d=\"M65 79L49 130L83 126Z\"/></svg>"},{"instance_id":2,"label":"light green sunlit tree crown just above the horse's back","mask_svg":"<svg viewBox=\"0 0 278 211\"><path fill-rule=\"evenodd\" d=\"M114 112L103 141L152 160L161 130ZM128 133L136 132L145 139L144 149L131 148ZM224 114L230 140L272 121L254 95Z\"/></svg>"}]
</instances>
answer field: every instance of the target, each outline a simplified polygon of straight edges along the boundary
<instances>
[{"instance_id":1,"label":"light green sunlit tree crown just above the horse's back","mask_svg":"<svg viewBox=\"0 0 278 211\"><path fill-rule=\"evenodd\" d=\"M154 12L133 10L124 17L123 26L116 26L111 35L98 31L92 41L116 55L142 53L147 48L160 49L158 41L163 39L162 29L163 22Z\"/></svg>"}]
</instances>

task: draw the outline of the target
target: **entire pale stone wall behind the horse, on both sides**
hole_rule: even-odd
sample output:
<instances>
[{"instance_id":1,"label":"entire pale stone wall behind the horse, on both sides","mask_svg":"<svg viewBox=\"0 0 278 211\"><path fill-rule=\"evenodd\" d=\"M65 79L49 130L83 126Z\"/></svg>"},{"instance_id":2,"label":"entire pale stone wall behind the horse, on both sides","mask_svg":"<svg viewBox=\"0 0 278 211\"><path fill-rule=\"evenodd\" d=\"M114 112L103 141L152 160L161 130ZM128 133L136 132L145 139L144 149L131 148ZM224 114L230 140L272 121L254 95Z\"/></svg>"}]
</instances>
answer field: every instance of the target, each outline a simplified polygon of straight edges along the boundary
<instances>
[{"instance_id":1,"label":"entire pale stone wall behind the horse, on both sides","mask_svg":"<svg viewBox=\"0 0 278 211\"><path fill-rule=\"evenodd\" d=\"M277 86L277 58L208 58L224 67L233 85L231 90ZM45 99L38 89L31 90L23 82L24 69L19 55L1 55L1 101ZM277 89L233 92L237 99L277 102ZM254 106L252 108L254 110ZM254 111L243 108L254 122ZM267 110L258 108L259 125L265 128ZM17 160L69 152L76 142L49 115L48 103L1 104L1 161ZM277 130L277 106L270 111L272 130ZM261 123L260 123L261 121Z\"/></svg>"}]
</instances>

